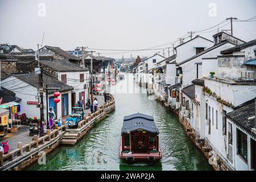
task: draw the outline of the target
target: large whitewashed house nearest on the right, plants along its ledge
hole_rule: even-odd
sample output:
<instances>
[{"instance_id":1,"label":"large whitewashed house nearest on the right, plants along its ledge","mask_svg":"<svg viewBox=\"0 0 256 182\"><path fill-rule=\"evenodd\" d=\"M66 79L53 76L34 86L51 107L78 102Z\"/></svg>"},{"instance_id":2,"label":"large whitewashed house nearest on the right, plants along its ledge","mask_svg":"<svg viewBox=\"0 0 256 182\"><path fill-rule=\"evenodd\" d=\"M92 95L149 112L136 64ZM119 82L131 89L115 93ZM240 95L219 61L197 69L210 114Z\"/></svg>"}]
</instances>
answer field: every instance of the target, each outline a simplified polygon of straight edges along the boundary
<instances>
[{"instance_id":1,"label":"large whitewashed house nearest on the right, plants along its ledge","mask_svg":"<svg viewBox=\"0 0 256 182\"><path fill-rule=\"evenodd\" d=\"M238 148L230 141L236 140L238 130L232 122L227 121L226 114L256 96L253 71L255 68L246 65L255 59L255 45L256 41L253 40L221 51L222 55L217 56L217 76L203 77L203 94L200 100L197 99L200 102L201 113L200 138L205 139L208 146L229 169L239 170L250 167L246 162L236 166L243 159L237 158Z\"/></svg>"}]
</instances>

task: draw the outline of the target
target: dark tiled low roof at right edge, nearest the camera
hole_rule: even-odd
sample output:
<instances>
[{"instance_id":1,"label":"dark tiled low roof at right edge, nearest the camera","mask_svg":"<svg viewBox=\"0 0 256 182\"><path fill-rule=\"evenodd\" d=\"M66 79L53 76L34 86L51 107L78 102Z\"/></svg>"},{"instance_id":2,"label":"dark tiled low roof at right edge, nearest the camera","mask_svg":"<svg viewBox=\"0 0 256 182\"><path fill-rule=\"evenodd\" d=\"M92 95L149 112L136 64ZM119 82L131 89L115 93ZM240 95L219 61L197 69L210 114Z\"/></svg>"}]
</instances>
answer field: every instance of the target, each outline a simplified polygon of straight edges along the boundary
<instances>
[{"instance_id":1,"label":"dark tiled low roof at right edge, nearest the camera","mask_svg":"<svg viewBox=\"0 0 256 182\"><path fill-rule=\"evenodd\" d=\"M226 117L233 121L233 123L237 126L240 126L247 133L254 135L251 131L255 127L255 118L248 119L249 117L253 117L256 115L255 113L255 99L245 102L245 104L241 105L234 111L227 113Z\"/></svg>"}]
</instances>

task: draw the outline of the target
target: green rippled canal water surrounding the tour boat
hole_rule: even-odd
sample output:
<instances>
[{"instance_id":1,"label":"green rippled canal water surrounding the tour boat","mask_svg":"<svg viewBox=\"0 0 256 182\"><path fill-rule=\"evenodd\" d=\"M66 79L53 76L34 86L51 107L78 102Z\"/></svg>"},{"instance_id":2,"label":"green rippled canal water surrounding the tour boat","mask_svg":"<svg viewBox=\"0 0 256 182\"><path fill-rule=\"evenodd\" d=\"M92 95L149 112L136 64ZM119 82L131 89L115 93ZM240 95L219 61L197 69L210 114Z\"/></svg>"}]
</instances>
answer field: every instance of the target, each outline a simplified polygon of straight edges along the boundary
<instances>
[{"instance_id":1,"label":"green rippled canal water surrounding the tour boat","mask_svg":"<svg viewBox=\"0 0 256 182\"><path fill-rule=\"evenodd\" d=\"M147 97L146 89L134 83L133 75L110 85L115 111L97 123L75 146L59 147L46 157L46 164L28 170L212 170L203 154L185 135L177 115L159 101ZM153 115L160 134L163 158L154 165L126 164L118 157L124 115Z\"/></svg>"}]
</instances>

